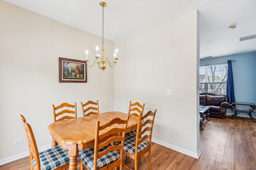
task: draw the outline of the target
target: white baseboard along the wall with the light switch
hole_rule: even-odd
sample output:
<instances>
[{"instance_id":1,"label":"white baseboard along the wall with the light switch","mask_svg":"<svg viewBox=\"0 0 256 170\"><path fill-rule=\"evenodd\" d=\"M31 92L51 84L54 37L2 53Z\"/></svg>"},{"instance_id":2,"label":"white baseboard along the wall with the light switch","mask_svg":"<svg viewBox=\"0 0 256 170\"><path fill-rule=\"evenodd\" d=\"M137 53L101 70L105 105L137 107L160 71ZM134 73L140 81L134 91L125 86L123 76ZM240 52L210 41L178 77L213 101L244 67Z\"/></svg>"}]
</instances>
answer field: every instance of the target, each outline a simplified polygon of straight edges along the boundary
<instances>
[{"instance_id":1,"label":"white baseboard along the wall with the light switch","mask_svg":"<svg viewBox=\"0 0 256 170\"><path fill-rule=\"evenodd\" d=\"M200 149L198 150L198 153L194 153L194 152L191 152L191 151L189 151L189 150L182 149L182 148L177 147L177 146L174 146L174 145L170 145L169 143L165 143L165 142L163 142L163 141L159 141L159 140L157 140L157 139L153 139L153 138L152 138L152 142L157 143L157 144L159 144L159 145L162 145L162 146L164 146L164 147L167 147L167 148L176 150L177 152L181 152L181 153L186 154L186 155L188 155L188 156L192 156L193 158L197 158L197 159L199 158L199 156L200 156L200 154L201 154Z\"/></svg>"}]
</instances>

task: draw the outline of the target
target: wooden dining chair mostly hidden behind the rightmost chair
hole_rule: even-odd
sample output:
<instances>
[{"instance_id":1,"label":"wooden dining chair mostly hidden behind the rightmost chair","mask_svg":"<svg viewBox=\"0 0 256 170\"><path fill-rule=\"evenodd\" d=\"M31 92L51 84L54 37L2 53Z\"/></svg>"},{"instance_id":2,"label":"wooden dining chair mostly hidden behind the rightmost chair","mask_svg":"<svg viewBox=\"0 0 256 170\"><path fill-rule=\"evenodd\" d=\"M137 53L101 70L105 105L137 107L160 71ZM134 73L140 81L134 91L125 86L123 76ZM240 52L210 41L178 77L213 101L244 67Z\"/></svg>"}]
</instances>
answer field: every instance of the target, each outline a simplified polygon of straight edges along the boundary
<instances>
[{"instance_id":1,"label":"wooden dining chair mostly hidden behind the rightmost chair","mask_svg":"<svg viewBox=\"0 0 256 170\"><path fill-rule=\"evenodd\" d=\"M130 101L128 114L139 116L140 113L142 113L143 115L144 106L145 104L141 105L139 102L132 103L132 101ZM136 135L136 130L126 133L126 136L130 136L130 135Z\"/></svg>"}]
</instances>

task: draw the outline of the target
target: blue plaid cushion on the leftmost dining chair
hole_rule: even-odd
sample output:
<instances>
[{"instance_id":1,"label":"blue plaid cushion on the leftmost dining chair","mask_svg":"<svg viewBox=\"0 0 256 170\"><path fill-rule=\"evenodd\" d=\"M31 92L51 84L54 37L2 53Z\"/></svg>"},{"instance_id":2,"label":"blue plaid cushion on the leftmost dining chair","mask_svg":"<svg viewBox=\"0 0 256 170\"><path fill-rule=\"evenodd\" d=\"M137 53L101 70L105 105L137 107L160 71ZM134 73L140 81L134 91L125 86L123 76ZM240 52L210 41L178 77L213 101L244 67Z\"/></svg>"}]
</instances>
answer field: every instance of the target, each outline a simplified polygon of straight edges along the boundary
<instances>
[{"instance_id":1,"label":"blue plaid cushion on the leftmost dining chair","mask_svg":"<svg viewBox=\"0 0 256 170\"><path fill-rule=\"evenodd\" d=\"M53 170L69 162L68 150L63 150L60 146L39 152L41 170ZM36 169L36 161L32 160Z\"/></svg>"}]
</instances>

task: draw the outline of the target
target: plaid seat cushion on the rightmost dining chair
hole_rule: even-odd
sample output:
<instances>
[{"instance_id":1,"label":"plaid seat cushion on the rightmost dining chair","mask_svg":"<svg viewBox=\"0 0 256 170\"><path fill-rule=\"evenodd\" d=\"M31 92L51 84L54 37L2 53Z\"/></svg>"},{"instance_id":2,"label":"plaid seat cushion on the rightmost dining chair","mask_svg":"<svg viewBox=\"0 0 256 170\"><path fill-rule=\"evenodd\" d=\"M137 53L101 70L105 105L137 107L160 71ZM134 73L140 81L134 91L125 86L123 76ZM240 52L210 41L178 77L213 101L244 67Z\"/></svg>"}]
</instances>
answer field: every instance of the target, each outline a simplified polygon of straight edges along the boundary
<instances>
[{"instance_id":1,"label":"plaid seat cushion on the rightmost dining chair","mask_svg":"<svg viewBox=\"0 0 256 170\"><path fill-rule=\"evenodd\" d=\"M139 138L140 139L140 138ZM124 139L124 151L135 154L135 141L136 136L127 136ZM121 145L121 142L115 142L114 145ZM142 141L140 145L138 145L138 153L140 153L142 150L146 149L149 146L149 143L147 141Z\"/></svg>"}]
</instances>

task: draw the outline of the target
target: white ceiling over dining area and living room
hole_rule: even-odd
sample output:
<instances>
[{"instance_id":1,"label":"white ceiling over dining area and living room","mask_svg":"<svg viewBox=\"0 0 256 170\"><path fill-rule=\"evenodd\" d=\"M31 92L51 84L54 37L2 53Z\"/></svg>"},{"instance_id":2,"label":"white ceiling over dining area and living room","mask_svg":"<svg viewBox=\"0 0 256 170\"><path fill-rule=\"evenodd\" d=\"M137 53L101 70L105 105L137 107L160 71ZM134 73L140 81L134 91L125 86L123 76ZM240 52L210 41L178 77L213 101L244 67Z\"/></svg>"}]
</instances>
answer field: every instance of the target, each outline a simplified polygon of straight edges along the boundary
<instances>
[{"instance_id":1,"label":"white ceiling over dining area and living room","mask_svg":"<svg viewBox=\"0 0 256 170\"><path fill-rule=\"evenodd\" d=\"M102 36L96 0L4 0L53 20ZM200 58L256 51L256 0L105 0L104 38L118 41L182 14L200 13ZM228 27L236 25L236 29ZM188 29L190 25L187 25Z\"/></svg>"}]
</instances>

